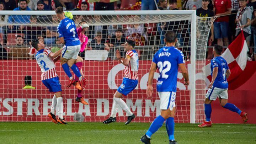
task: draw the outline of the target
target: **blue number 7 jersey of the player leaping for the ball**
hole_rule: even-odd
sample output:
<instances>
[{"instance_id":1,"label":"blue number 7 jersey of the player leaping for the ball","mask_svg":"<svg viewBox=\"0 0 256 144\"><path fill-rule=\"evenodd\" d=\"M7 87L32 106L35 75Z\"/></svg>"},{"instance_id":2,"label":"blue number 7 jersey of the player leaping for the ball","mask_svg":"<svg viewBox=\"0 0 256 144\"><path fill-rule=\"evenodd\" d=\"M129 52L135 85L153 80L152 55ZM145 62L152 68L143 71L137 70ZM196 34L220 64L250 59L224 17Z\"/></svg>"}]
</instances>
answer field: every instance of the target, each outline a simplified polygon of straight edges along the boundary
<instances>
[{"instance_id":1,"label":"blue number 7 jersey of the player leaping for the ball","mask_svg":"<svg viewBox=\"0 0 256 144\"><path fill-rule=\"evenodd\" d=\"M59 37L64 37L65 46L77 46L80 45L80 40L76 31L74 21L69 18L64 18L60 21L57 31Z\"/></svg>"}]
</instances>

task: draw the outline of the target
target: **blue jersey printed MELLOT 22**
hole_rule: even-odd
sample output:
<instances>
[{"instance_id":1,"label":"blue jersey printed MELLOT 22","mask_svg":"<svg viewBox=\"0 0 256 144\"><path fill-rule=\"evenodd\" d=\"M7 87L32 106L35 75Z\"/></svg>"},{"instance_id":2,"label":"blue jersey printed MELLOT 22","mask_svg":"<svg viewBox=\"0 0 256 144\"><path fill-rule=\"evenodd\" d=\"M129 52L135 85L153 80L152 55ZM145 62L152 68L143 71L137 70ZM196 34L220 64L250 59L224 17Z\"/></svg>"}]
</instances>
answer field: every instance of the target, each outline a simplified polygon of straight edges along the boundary
<instances>
[{"instance_id":1,"label":"blue jersey printed MELLOT 22","mask_svg":"<svg viewBox=\"0 0 256 144\"><path fill-rule=\"evenodd\" d=\"M153 62L159 69L158 92L177 91L178 64L185 63L183 53L175 47L163 47L155 53Z\"/></svg>"}]
</instances>

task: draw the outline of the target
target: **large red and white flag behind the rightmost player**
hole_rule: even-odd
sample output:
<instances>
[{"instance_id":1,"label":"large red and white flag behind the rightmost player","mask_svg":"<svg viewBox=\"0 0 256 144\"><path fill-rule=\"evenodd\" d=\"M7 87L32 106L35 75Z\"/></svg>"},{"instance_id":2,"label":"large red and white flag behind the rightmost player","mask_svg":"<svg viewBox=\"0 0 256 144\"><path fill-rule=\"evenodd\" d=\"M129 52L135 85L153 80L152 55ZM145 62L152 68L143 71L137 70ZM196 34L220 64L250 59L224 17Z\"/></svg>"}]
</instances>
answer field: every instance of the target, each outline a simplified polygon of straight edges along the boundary
<instances>
[{"instance_id":1,"label":"large red and white flag behind the rightmost player","mask_svg":"<svg viewBox=\"0 0 256 144\"><path fill-rule=\"evenodd\" d=\"M244 38L244 32L241 31L238 37L236 37L236 39L231 44L229 44L228 48L221 55L228 63L229 69L231 71L231 75L229 76L228 81L237 78L245 69L247 62L247 50L248 46ZM211 70L209 63L206 65L206 77L209 81L212 80L210 74Z\"/></svg>"}]
</instances>

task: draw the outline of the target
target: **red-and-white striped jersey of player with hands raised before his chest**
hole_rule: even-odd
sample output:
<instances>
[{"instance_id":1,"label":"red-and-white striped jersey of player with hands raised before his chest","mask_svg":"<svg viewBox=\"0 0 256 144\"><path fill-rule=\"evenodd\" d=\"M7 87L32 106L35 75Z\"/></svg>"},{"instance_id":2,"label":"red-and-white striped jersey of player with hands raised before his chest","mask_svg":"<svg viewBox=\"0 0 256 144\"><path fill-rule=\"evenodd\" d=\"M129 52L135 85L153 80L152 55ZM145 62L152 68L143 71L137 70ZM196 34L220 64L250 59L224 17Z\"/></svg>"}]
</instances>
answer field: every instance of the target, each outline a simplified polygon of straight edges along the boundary
<instances>
[{"instance_id":1,"label":"red-and-white striped jersey of player with hands raised before his chest","mask_svg":"<svg viewBox=\"0 0 256 144\"><path fill-rule=\"evenodd\" d=\"M130 57L129 64L124 68L124 78L138 80L139 56L136 50L129 50L126 56Z\"/></svg>"}]
</instances>

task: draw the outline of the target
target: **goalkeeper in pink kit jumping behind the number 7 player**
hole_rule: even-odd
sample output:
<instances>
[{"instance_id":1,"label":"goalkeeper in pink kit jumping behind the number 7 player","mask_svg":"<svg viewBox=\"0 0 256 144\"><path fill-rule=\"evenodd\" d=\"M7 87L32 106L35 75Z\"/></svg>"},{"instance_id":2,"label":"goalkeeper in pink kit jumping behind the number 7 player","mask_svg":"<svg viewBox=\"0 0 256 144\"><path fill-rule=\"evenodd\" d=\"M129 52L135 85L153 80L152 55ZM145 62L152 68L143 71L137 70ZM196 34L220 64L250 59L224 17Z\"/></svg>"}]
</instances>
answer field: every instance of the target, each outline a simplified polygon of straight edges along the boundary
<instances>
[{"instance_id":1,"label":"goalkeeper in pink kit jumping behind the number 7 player","mask_svg":"<svg viewBox=\"0 0 256 144\"><path fill-rule=\"evenodd\" d=\"M80 39L80 43L81 43L80 52L84 52L86 45L88 43L88 37L85 35L85 32L88 30L88 28L89 28L89 25L83 21L78 24L78 28L76 29L76 31L78 32L78 37ZM76 59L75 64L78 67L82 77L84 78L84 75L82 73L82 62L83 61L84 60L78 56L78 59ZM77 76L75 76L75 80L78 81L79 78ZM84 78L83 81L84 81L84 86L85 86L86 79ZM82 90L78 90L78 95L76 97L76 101L81 102L84 105L88 105L88 103L84 100L84 98L82 97L81 94L82 94Z\"/></svg>"}]
</instances>

